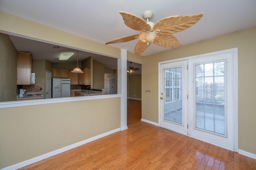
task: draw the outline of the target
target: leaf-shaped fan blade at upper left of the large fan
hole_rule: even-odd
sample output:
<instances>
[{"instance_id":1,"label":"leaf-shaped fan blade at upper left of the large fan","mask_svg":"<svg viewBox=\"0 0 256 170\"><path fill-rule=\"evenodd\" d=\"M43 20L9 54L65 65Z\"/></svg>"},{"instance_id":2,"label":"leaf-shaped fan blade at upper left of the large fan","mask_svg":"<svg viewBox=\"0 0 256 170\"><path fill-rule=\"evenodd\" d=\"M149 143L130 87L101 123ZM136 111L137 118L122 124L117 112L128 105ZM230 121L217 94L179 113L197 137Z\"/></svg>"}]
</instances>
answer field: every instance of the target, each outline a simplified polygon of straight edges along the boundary
<instances>
[{"instance_id":1,"label":"leaf-shaped fan blade at upper left of the large fan","mask_svg":"<svg viewBox=\"0 0 256 170\"><path fill-rule=\"evenodd\" d=\"M137 17L133 14L130 14L128 12L119 12L124 20L124 23L127 27L130 27L131 29L137 30L137 31L150 31L151 27L147 24L145 20L143 20L140 17Z\"/></svg>"}]
</instances>

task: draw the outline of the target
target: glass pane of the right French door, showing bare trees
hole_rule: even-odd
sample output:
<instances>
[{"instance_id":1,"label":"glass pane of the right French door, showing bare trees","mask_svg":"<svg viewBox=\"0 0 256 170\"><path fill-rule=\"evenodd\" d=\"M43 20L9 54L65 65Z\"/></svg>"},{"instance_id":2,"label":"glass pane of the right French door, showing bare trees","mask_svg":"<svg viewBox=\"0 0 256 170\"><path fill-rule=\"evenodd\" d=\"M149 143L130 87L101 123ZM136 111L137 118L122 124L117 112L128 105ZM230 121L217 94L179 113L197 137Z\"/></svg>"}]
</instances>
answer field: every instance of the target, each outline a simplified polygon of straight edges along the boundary
<instances>
[{"instance_id":1,"label":"glass pane of the right French door, showing bare trees","mask_svg":"<svg viewBox=\"0 0 256 170\"><path fill-rule=\"evenodd\" d=\"M224 62L196 68L196 128L225 134Z\"/></svg>"}]
</instances>

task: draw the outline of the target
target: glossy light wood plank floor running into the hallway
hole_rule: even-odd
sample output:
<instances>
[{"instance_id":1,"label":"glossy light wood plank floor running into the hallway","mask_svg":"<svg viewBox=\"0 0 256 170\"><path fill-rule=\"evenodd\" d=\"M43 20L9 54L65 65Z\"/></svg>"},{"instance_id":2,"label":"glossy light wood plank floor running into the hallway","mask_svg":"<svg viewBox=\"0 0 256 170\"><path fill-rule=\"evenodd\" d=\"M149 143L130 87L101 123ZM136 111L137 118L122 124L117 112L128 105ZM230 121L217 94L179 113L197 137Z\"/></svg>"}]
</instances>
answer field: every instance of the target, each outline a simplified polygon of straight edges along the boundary
<instances>
[{"instance_id":1,"label":"glossy light wood plank floor running into the hallway","mask_svg":"<svg viewBox=\"0 0 256 170\"><path fill-rule=\"evenodd\" d=\"M256 170L256 160L140 121L141 101L128 100L128 129L22 170Z\"/></svg>"}]
</instances>

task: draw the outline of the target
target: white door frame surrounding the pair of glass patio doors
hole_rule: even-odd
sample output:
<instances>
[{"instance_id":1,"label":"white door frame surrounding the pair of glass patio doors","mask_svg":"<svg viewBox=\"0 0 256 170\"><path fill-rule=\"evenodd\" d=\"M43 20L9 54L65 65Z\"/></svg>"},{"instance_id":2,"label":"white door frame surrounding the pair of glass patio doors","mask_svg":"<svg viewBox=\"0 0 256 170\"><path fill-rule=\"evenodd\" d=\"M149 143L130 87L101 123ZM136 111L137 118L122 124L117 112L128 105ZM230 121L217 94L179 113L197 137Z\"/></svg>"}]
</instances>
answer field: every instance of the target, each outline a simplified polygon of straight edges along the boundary
<instances>
[{"instance_id":1,"label":"white door frame surrounding the pair of glass patio doors","mask_svg":"<svg viewBox=\"0 0 256 170\"><path fill-rule=\"evenodd\" d=\"M189 59L195 59L198 57L206 57L206 56L211 56L216 53L232 53L232 85L233 85L233 96L232 96L232 110L233 110L233 150L235 152L238 152L238 52L237 48L233 49L227 49L227 50L222 50L222 51L217 51L213 53L206 53L202 55L196 55L196 56L191 56L191 57L184 57L180 59L174 59L174 60L169 60L169 61L162 61L158 63L158 106L160 106L160 97L161 97L161 69L160 69L160 64L164 63L171 63L171 62L176 62L176 61L182 61L182 60L189 60ZM160 114L161 114L161 108L158 107L158 125L160 125ZM223 146L221 146L223 147ZM227 148L228 149L228 148Z\"/></svg>"}]
</instances>

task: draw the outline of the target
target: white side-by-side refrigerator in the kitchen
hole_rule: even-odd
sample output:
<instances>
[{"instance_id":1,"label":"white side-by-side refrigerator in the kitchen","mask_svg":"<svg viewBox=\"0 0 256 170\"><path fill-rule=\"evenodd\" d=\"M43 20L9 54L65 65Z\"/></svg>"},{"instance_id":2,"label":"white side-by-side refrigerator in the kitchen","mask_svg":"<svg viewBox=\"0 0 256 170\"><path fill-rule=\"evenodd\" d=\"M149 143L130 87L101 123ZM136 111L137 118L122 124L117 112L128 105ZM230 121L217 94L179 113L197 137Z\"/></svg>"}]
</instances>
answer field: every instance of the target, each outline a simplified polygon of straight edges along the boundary
<instances>
[{"instance_id":1,"label":"white side-by-side refrigerator in the kitchen","mask_svg":"<svg viewBox=\"0 0 256 170\"><path fill-rule=\"evenodd\" d=\"M70 78L52 78L52 98L70 97Z\"/></svg>"}]
</instances>

